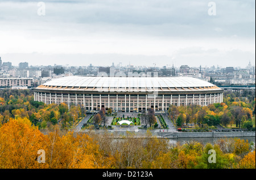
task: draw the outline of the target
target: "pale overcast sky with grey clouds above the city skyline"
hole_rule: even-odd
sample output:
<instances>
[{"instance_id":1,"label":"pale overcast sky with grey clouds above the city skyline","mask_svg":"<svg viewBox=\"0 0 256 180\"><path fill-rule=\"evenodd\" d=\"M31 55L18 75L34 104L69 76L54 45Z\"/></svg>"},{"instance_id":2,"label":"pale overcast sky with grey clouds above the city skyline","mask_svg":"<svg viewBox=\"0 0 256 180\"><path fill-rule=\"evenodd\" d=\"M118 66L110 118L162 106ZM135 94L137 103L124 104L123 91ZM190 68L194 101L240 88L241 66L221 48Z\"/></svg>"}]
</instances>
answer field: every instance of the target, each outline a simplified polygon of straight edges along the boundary
<instances>
[{"instance_id":1,"label":"pale overcast sky with grey clouds above the city skyline","mask_svg":"<svg viewBox=\"0 0 256 180\"><path fill-rule=\"evenodd\" d=\"M13 65L255 65L255 0L0 1L0 56ZM40 9L41 10L41 9ZM42 11L39 11L42 12Z\"/></svg>"}]
</instances>

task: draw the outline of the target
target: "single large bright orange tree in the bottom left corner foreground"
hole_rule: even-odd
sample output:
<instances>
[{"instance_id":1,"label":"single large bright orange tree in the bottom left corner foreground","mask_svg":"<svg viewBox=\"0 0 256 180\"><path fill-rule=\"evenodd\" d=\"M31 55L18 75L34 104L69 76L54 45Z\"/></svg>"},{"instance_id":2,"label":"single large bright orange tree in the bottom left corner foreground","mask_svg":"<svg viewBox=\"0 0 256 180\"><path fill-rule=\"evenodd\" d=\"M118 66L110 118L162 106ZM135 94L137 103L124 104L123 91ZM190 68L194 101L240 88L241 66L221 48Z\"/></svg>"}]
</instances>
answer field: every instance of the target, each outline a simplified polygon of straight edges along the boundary
<instances>
[{"instance_id":1,"label":"single large bright orange tree in the bottom left corner foreground","mask_svg":"<svg viewBox=\"0 0 256 180\"><path fill-rule=\"evenodd\" d=\"M42 168L36 159L44 135L27 118L10 119L0 128L0 168Z\"/></svg>"}]
</instances>

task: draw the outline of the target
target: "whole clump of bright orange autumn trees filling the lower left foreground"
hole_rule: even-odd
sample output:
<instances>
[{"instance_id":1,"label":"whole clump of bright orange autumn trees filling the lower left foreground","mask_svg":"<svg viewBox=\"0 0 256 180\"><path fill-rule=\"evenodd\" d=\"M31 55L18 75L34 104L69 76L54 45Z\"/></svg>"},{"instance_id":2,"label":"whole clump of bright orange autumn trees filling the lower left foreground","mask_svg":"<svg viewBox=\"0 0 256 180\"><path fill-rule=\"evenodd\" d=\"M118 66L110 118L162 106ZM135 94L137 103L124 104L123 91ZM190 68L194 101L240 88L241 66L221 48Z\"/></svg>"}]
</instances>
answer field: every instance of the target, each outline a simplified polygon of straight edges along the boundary
<instances>
[{"instance_id":1,"label":"whole clump of bright orange autumn trees filling the lower left foreground","mask_svg":"<svg viewBox=\"0 0 256 180\"><path fill-rule=\"evenodd\" d=\"M39 163L38 150L46 152ZM84 133L59 129L43 135L27 118L10 119L0 128L0 168L112 168L112 156L105 156L97 142Z\"/></svg>"}]
</instances>

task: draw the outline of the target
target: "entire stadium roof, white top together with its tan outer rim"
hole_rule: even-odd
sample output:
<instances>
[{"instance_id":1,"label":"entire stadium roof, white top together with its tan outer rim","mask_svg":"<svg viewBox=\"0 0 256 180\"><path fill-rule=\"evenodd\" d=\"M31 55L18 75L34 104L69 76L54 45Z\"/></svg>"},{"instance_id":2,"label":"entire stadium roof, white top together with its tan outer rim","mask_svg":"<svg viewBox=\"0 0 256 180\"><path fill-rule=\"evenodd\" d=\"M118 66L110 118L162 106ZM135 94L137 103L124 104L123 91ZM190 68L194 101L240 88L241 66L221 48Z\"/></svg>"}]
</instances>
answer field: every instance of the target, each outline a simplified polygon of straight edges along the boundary
<instances>
[{"instance_id":1,"label":"entire stadium roof, white top together with its tan outer rim","mask_svg":"<svg viewBox=\"0 0 256 180\"><path fill-rule=\"evenodd\" d=\"M207 81L192 77L81 77L67 76L52 79L34 90L46 91L97 91L152 92L152 91L209 91L221 90ZM46 91L45 91L46 90Z\"/></svg>"}]
</instances>

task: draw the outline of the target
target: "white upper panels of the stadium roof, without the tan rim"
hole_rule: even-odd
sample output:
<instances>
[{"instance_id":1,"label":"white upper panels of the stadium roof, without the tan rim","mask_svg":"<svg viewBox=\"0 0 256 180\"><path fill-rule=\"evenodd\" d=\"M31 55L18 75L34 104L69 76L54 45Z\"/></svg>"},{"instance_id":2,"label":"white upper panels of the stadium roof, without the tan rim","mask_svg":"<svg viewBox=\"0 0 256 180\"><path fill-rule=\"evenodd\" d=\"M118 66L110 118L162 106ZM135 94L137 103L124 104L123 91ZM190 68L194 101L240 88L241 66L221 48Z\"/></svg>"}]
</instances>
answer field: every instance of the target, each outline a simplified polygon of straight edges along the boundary
<instances>
[{"instance_id":1,"label":"white upper panels of the stadium roof, without the tan rim","mask_svg":"<svg viewBox=\"0 0 256 180\"><path fill-rule=\"evenodd\" d=\"M44 86L63 87L126 87L126 88L179 88L179 87L210 87L212 83L192 77L81 77L68 76L52 79L43 84Z\"/></svg>"}]
</instances>

